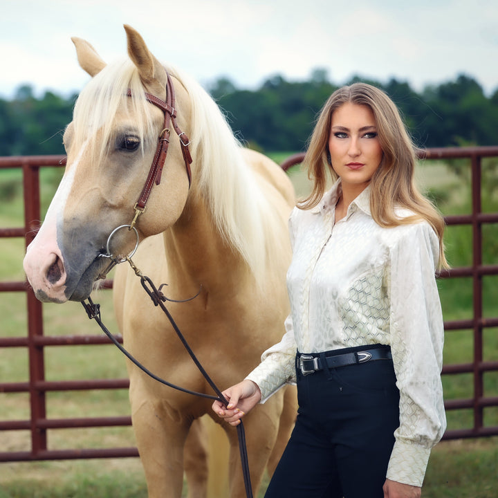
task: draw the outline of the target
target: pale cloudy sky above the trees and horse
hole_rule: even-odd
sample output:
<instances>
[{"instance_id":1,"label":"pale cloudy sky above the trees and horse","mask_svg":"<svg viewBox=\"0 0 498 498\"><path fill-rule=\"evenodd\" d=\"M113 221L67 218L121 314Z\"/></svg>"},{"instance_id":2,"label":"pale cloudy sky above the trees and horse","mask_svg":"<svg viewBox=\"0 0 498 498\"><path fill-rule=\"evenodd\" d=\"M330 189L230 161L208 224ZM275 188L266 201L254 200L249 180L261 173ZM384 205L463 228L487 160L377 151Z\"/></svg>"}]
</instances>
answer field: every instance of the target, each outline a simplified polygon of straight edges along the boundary
<instances>
[{"instance_id":1,"label":"pale cloudy sky above the trees and horse","mask_svg":"<svg viewBox=\"0 0 498 498\"><path fill-rule=\"evenodd\" d=\"M205 87L228 77L256 89L320 68L335 84L396 77L421 91L463 73L486 95L498 89L496 0L0 0L0 98L23 84L80 91L89 76L71 37L113 62L126 55L123 24Z\"/></svg>"}]
</instances>

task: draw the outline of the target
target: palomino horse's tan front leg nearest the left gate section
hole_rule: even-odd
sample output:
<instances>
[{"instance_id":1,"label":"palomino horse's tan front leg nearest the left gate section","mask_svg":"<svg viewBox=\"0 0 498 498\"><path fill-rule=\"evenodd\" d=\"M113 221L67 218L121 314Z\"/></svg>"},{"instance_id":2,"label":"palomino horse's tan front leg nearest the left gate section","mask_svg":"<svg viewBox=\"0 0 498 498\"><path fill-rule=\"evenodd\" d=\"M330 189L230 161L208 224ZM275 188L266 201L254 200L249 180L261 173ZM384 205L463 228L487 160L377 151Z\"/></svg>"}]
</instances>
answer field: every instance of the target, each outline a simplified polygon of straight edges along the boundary
<instances>
[{"instance_id":1,"label":"palomino horse's tan front leg nearest the left gate section","mask_svg":"<svg viewBox=\"0 0 498 498\"><path fill-rule=\"evenodd\" d=\"M149 498L181 498L183 446L189 424L180 417L173 420L163 400L133 400L133 394L130 399L133 431Z\"/></svg>"}]
</instances>

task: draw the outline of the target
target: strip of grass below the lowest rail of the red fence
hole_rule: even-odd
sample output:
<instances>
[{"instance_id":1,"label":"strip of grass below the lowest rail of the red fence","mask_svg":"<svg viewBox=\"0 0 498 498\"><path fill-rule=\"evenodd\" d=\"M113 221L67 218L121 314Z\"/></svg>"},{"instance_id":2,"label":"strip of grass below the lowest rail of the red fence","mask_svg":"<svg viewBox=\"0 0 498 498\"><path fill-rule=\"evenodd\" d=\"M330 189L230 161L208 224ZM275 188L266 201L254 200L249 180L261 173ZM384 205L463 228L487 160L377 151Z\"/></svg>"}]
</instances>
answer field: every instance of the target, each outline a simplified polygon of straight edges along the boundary
<instances>
[{"instance_id":1,"label":"strip of grass below the lowest rail of the red fence","mask_svg":"<svg viewBox=\"0 0 498 498\"><path fill-rule=\"evenodd\" d=\"M422 496L495 498L497 468L498 438L443 441L432 451ZM146 498L138 459L0 464L0 498L88 497Z\"/></svg>"}]
</instances>

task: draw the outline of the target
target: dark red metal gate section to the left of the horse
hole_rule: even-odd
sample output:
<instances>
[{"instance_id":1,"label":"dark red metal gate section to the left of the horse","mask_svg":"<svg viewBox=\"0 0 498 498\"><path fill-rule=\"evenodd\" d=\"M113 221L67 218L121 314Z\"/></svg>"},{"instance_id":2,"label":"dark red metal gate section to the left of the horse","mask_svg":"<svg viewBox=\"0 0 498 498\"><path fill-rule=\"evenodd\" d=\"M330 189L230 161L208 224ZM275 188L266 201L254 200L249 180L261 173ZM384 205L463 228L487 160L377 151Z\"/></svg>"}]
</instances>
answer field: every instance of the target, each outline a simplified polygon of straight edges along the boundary
<instances>
[{"instance_id":1,"label":"dark red metal gate section to the left of the horse","mask_svg":"<svg viewBox=\"0 0 498 498\"><path fill-rule=\"evenodd\" d=\"M0 237L24 237L26 246L33 241L41 219L39 170L48 166L64 166L65 156L26 156L0 158L0 169L21 168L24 188L24 227L0 229ZM106 282L111 287L111 282ZM30 419L0 421L1 431L29 430L31 451L0 452L1 461L86 459L104 457L136 457L136 448L102 448L79 450L48 450L47 431L68 427L109 427L131 425L131 417L62 418L46 416L46 393L49 391L72 391L86 389L123 389L129 386L128 379L102 380L45 380L44 349L77 344L111 344L104 335L67 335L50 337L44 335L42 303L39 302L26 282L0 282L0 291L24 292L27 298L28 330L26 337L0 337L0 348L24 347L28 349L28 382L0 382L0 393L27 392L30 395ZM84 316L84 315L83 315ZM122 338L118 338L120 341Z\"/></svg>"}]
</instances>

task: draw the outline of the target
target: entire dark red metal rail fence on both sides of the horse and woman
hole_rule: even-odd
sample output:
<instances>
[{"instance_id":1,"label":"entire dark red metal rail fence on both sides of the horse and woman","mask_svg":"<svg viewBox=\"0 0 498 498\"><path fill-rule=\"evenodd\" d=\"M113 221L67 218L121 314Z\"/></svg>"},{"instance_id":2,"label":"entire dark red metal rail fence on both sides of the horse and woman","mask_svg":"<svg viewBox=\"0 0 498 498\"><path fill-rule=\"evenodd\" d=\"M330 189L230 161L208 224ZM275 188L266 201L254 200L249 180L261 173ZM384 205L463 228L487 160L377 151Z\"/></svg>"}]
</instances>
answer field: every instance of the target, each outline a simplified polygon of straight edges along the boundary
<instances>
[{"instance_id":1,"label":"entire dark red metal rail fence on both sides of the horse and woman","mask_svg":"<svg viewBox=\"0 0 498 498\"><path fill-rule=\"evenodd\" d=\"M473 424L470 428L450 430L443 439L474 438L498 435L498 425L484 423L484 410L498 408L498 396L486 396L484 375L497 372L498 361L485 361L483 351L483 331L498 327L498 317L483 316L483 277L498 275L497 264L483 264L483 226L498 223L498 213L481 210L481 162L483 158L498 158L498 147L462 147L448 149L427 149L419 152L420 158L470 160L472 212L459 216L447 216L447 225L470 225L472 227L472 265L452 268L443 272L443 279L472 279L473 314L467 320L445 322L446 333L456 330L471 330L473 334L473 361L444 365L443 376L470 374L473 378L473 394L466 399L445 400L445 408L450 410L472 410ZM304 154L291 156L282 163L284 169L300 163ZM39 171L42 167L63 166L64 156L26 156L0 158L0 169L20 168L23 172L24 226L20 228L0 228L1 237L21 237L26 246L33 240L39 228L40 184ZM1 180L1 178L0 178ZM105 286L110 288L112 282ZM126 378L100 380L55 380L45 379L44 351L48 347L68 345L108 344L103 335L44 335L42 303L37 301L26 282L0 282L0 293L26 293L27 331L21 337L4 337L0 326L0 348L25 348L28 351L29 373L26 382L4 382L0 378L0 394L26 393L30 397L30 418L26 420L0 420L0 441L2 431L30 432L30 450L0 451L2 461L33 461L54 459L90 459L103 457L136 457L136 448L89 448L75 450L50 450L47 445L48 430L81 427L111 427L131 425L129 416L89 417L89 418L47 418L46 394L50 391L76 391L86 389L126 389ZM1 299L1 297L0 297ZM498 331L497 331L498 333ZM118 336L118 340L122 340ZM0 450L2 450L0 446Z\"/></svg>"}]
</instances>

